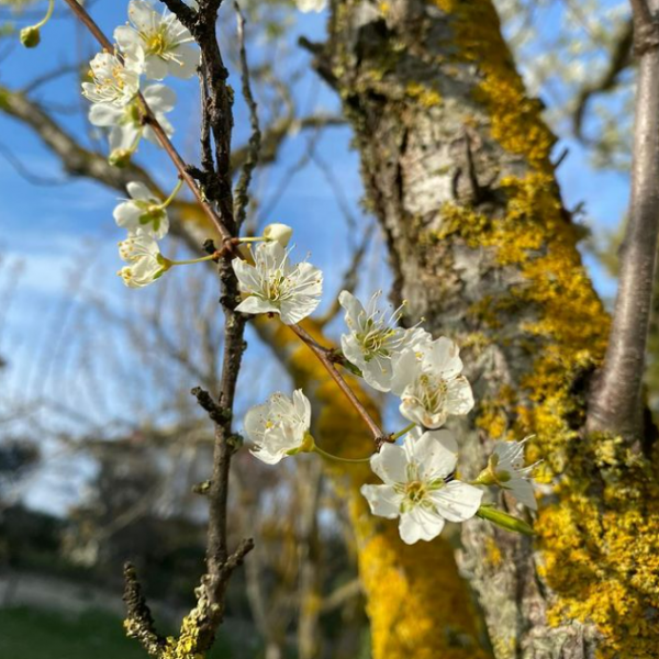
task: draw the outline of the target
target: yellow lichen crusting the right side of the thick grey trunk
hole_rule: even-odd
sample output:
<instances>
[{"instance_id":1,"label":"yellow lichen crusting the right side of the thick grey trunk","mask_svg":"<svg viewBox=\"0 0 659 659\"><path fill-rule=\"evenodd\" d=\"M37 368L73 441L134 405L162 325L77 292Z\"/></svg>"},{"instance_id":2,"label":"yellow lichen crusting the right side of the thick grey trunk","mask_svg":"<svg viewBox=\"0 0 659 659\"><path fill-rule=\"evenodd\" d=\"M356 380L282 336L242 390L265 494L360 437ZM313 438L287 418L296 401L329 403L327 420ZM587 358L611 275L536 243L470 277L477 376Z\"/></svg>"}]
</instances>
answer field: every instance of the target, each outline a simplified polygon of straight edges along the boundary
<instances>
[{"instance_id":1,"label":"yellow lichen crusting the right side of the thick grey trunk","mask_svg":"<svg viewBox=\"0 0 659 659\"><path fill-rule=\"evenodd\" d=\"M601 657L657 657L659 647L659 461L633 455L615 437L582 432L585 394L580 378L601 364L608 317L593 292L566 217L549 161L554 137L540 108L526 98L490 0L435 0L450 14L456 60L478 63L473 98L488 110L490 132L503 149L526 163L527 174L505 177L502 216L446 205L436 237L490 248L502 268L515 267L524 283L513 287L492 313L532 309L518 327L529 368L502 409L493 394L478 425L500 436L535 434L530 457L543 457L545 478L558 503L541 507L535 524L543 549L543 577L557 597L554 625L574 618L594 623ZM479 309L474 308L478 313ZM581 389L580 389L581 387Z\"/></svg>"}]
</instances>

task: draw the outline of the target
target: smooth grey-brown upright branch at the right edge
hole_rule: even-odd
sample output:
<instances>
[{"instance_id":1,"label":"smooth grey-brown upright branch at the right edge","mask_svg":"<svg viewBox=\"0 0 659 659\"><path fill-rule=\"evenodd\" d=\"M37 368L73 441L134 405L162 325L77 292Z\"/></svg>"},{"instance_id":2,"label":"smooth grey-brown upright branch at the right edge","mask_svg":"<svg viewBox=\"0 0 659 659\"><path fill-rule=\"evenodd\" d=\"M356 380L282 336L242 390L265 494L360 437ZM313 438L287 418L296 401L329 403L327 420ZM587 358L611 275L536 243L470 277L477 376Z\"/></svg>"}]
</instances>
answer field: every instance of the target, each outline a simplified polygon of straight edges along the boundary
<instances>
[{"instance_id":1,"label":"smooth grey-brown upright branch at the right edge","mask_svg":"<svg viewBox=\"0 0 659 659\"><path fill-rule=\"evenodd\" d=\"M651 16L648 23L645 1L635 0L633 7L639 68L629 220L613 324L604 366L591 394L588 428L638 440L659 234L659 27Z\"/></svg>"}]
</instances>

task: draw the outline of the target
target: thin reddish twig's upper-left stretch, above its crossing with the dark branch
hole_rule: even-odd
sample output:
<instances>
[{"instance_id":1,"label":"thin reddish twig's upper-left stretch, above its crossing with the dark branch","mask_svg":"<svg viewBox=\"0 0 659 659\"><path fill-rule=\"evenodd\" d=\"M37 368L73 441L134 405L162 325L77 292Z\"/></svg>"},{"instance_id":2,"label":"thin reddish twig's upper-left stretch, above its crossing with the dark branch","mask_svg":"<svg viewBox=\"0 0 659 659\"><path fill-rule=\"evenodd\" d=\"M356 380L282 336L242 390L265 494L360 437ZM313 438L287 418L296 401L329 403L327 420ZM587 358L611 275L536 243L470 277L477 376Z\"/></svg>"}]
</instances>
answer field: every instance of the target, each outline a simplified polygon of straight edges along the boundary
<instances>
[{"instance_id":1,"label":"thin reddish twig's upper-left stretch, above its crossing with the dark branch","mask_svg":"<svg viewBox=\"0 0 659 659\"><path fill-rule=\"evenodd\" d=\"M64 0L64 1L70 7L71 11L85 24L85 26L91 32L91 34L101 44L101 46L103 46L103 48L105 48L110 53L115 52L115 48L114 48L114 45L112 44L112 42L103 34L103 32L98 26L96 21L89 15L89 13L87 12L87 10L83 7L78 4L78 2L76 0ZM118 57L123 62L121 54L118 53ZM204 196L203 196L202 191L199 189L199 186L197 185L197 182L194 181L192 176L190 176L188 166L186 165L186 163L183 161L183 159L181 158L179 153L176 150L174 144L171 144L171 141L169 139L169 137L167 137L165 130L163 129L163 126L160 125L158 120L155 118L152 109L148 107L148 103L144 100L142 92L139 92L138 98L139 98L139 101L142 102L142 105L144 108L144 112L146 115L145 122L148 123L148 125L155 133L158 142L160 143L160 146L165 149L167 155L171 158L175 167L178 169L180 177L186 181L186 183L192 191L192 194L194 194L194 198L199 202L199 205L203 209L203 212L205 213L205 215L209 217L209 220L213 223L213 225L217 230L217 233L220 234L220 236L225 241L230 239L232 237L231 232L226 228L226 226L220 219L220 215L217 215L215 210L204 199Z\"/></svg>"}]
</instances>

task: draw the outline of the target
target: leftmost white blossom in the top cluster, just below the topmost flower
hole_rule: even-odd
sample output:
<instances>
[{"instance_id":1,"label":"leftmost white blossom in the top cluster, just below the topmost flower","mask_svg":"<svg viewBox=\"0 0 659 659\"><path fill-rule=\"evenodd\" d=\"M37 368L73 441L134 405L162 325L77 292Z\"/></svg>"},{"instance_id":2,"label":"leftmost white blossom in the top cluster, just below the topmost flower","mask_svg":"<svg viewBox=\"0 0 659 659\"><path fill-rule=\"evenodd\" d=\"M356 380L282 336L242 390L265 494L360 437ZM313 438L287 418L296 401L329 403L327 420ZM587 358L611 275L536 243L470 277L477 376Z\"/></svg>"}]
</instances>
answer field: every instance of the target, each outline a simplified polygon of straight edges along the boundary
<instances>
[{"instance_id":1,"label":"leftmost white blossom in the top cluster, just below the topmost flower","mask_svg":"<svg viewBox=\"0 0 659 659\"><path fill-rule=\"evenodd\" d=\"M123 108L139 91L139 62L122 64L116 55L98 53L89 63L93 82L82 82L82 96L92 103Z\"/></svg>"}]
</instances>

